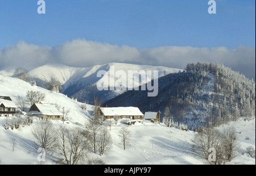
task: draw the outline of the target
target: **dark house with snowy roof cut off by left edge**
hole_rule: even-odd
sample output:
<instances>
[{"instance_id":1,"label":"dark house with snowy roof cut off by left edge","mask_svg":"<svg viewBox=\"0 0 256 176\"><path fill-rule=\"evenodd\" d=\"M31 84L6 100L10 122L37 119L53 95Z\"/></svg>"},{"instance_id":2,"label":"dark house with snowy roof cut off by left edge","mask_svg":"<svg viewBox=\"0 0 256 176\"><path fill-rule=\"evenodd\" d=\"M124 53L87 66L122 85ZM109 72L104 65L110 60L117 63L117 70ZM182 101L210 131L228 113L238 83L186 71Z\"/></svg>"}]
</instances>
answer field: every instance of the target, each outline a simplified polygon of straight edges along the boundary
<instances>
[{"instance_id":1,"label":"dark house with snowy roof cut off by left edge","mask_svg":"<svg viewBox=\"0 0 256 176\"><path fill-rule=\"evenodd\" d=\"M10 97L0 96L0 116L14 116L16 105Z\"/></svg>"}]
</instances>

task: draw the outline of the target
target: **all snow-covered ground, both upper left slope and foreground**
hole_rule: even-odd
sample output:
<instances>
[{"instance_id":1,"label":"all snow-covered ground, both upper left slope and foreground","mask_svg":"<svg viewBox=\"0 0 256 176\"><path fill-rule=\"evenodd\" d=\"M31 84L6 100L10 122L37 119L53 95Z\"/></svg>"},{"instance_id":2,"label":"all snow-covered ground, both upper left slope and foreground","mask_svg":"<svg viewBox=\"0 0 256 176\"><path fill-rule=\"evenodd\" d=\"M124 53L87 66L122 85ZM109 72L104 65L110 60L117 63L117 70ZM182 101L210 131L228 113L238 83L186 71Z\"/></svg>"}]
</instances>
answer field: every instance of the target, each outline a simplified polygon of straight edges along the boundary
<instances>
[{"instance_id":1,"label":"all snow-covered ground, both upper left slope and foreground","mask_svg":"<svg viewBox=\"0 0 256 176\"><path fill-rule=\"evenodd\" d=\"M20 79L10 78L0 75L0 95L10 96L15 102L18 95L26 97L28 90L41 91L46 94L47 103L57 103L61 107L70 109L68 122L53 121L55 126L66 125L68 127L84 127L86 121L90 119L90 112L93 107L87 105L87 110L82 110L81 103L68 98L63 94L51 93L41 87L31 86L30 83ZM20 127L18 129L5 129L5 117L0 117L0 163L16 165L34 165L38 164L37 148L34 145L35 137L32 135L30 126ZM77 125L77 124L81 124ZM177 128L169 128L162 124L142 121L134 125L125 125L131 132L130 146L123 150L121 140L118 137L122 126L122 120L117 124L112 124L111 136L113 140L112 149L103 156L88 152L89 158L100 158L109 165L199 165L204 164L202 156L192 150L191 139L195 135L192 131L181 131ZM228 125L228 124L226 124ZM224 128L222 125L218 128ZM228 164L255 165L255 158L246 154L246 148L253 146L255 149L255 118L251 120L240 119L232 122L237 129L238 141L240 141L240 150L236 158ZM15 139L15 147L11 141ZM60 156L57 150L46 151L46 163L55 164Z\"/></svg>"}]
</instances>

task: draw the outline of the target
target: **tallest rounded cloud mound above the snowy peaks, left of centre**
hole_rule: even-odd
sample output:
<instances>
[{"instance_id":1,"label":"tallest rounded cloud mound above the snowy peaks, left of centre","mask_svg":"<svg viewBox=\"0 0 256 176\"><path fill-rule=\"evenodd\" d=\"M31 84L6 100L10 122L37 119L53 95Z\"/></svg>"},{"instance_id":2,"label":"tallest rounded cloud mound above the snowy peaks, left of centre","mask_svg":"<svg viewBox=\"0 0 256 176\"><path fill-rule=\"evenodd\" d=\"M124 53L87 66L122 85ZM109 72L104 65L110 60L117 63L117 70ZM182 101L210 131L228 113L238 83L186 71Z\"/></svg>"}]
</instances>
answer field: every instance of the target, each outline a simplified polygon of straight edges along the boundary
<instances>
[{"instance_id":1,"label":"tallest rounded cloud mound above the snowy peaks, left of centre","mask_svg":"<svg viewBox=\"0 0 256 176\"><path fill-rule=\"evenodd\" d=\"M92 66L108 62L133 62L139 58L137 48L102 44L96 41L73 40L53 47L52 53L61 64Z\"/></svg>"}]
</instances>

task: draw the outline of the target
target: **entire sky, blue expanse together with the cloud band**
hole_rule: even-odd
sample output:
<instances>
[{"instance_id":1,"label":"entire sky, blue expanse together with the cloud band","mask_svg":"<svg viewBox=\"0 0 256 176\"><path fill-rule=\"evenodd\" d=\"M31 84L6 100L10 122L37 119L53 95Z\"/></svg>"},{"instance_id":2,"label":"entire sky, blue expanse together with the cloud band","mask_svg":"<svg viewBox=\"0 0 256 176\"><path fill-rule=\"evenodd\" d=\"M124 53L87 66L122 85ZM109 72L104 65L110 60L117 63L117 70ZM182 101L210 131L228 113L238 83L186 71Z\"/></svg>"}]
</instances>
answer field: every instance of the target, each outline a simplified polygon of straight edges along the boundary
<instances>
[{"instance_id":1,"label":"entire sky, blue expanse together with the cloud band","mask_svg":"<svg viewBox=\"0 0 256 176\"><path fill-rule=\"evenodd\" d=\"M2 68L40 53L70 66L220 62L255 78L254 0L216 0L216 14L208 0L44 1L46 14L38 0L0 0Z\"/></svg>"}]
</instances>

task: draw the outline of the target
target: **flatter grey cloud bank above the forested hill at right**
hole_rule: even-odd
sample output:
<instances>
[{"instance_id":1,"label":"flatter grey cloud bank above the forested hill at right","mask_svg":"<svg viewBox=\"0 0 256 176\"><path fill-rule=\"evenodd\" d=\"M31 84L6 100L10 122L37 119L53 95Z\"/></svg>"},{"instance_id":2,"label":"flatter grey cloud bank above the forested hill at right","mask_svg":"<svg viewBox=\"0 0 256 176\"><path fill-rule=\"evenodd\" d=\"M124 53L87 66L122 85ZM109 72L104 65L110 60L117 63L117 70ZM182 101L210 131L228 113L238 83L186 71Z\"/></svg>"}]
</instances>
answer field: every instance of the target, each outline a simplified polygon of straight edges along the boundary
<instances>
[{"instance_id":1,"label":"flatter grey cloud bank above the forested hill at right","mask_svg":"<svg viewBox=\"0 0 256 176\"><path fill-rule=\"evenodd\" d=\"M228 49L167 46L144 49L143 53L143 57L149 58L154 65L184 69L188 63L214 62L224 64L255 80L255 48L251 47Z\"/></svg>"}]
</instances>

